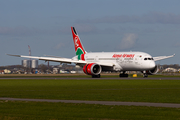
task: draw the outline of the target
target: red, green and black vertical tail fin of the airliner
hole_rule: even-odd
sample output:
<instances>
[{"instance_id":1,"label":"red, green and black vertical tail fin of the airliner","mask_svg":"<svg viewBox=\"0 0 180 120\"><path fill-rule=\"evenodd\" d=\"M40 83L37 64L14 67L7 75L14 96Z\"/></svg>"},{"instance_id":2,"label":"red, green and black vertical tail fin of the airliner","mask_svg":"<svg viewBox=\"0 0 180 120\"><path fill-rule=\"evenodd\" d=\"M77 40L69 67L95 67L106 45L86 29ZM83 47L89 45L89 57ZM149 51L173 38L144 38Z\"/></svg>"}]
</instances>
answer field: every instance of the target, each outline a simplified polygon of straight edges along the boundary
<instances>
[{"instance_id":1,"label":"red, green and black vertical tail fin of the airliner","mask_svg":"<svg viewBox=\"0 0 180 120\"><path fill-rule=\"evenodd\" d=\"M80 56L82 54L85 54L86 51L85 51L83 45L81 44L80 38L79 38L75 28L71 27L71 30L72 30L72 36L73 36L76 55Z\"/></svg>"}]
</instances>

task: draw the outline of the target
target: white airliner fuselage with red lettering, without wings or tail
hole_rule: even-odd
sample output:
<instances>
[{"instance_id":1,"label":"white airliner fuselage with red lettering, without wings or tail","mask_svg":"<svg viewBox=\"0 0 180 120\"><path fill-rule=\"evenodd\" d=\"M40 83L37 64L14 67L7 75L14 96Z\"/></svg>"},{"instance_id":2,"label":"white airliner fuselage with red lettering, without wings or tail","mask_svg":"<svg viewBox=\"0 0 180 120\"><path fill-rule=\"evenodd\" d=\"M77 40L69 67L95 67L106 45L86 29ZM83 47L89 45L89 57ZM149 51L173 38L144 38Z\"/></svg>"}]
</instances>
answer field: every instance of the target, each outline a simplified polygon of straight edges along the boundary
<instances>
[{"instance_id":1,"label":"white airliner fuselage with red lettering, without wings or tail","mask_svg":"<svg viewBox=\"0 0 180 120\"><path fill-rule=\"evenodd\" d=\"M93 52L86 53L88 63L113 64L115 71L144 71L155 67L151 55L144 52Z\"/></svg>"}]
</instances>

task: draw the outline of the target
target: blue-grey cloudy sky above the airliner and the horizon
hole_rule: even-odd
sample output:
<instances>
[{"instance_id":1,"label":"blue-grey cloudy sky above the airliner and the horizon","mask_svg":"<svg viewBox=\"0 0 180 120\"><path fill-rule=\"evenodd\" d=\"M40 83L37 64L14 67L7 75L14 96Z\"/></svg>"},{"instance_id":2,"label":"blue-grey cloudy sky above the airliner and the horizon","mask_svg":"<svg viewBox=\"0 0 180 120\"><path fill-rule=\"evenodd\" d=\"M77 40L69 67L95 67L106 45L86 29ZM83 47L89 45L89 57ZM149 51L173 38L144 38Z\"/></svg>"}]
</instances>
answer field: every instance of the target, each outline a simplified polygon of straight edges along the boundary
<instances>
[{"instance_id":1,"label":"blue-grey cloudy sky above the airliner and the horizon","mask_svg":"<svg viewBox=\"0 0 180 120\"><path fill-rule=\"evenodd\" d=\"M32 56L75 56L71 26L87 52L176 54L180 64L179 0L0 0L0 66ZM46 64L39 61L39 64ZM52 65L59 63L50 62Z\"/></svg>"}]
</instances>

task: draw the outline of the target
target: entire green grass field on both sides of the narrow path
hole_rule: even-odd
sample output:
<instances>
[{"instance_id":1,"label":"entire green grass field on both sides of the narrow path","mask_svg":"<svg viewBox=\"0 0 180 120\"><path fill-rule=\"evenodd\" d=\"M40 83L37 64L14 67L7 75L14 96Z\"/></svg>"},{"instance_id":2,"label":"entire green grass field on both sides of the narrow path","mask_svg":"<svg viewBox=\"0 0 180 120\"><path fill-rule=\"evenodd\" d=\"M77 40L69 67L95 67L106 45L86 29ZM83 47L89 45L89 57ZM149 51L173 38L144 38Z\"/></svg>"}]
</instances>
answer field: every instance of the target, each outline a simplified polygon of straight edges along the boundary
<instances>
[{"instance_id":1,"label":"entire green grass field on both sides of the narrow path","mask_svg":"<svg viewBox=\"0 0 180 120\"><path fill-rule=\"evenodd\" d=\"M0 97L180 103L180 80L1 79ZM180 109L0 101L0 120L180 119Z\"/></svg>"}]
</instances>

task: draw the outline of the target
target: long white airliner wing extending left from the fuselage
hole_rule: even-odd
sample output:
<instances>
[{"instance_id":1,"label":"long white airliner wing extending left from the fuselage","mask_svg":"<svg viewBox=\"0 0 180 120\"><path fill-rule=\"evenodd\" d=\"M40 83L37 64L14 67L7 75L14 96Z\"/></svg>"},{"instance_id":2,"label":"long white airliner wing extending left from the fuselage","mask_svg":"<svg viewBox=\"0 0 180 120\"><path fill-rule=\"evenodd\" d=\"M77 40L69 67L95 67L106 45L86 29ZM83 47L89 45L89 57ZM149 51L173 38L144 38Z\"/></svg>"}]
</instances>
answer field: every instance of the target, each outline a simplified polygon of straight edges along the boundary
<instances>
[{"instance_id":1,"label":"long white airliner wing extending left from the fuselage","mask_svg":"<svg viewBox=\"0 0 180 120\"><path fill-rule=\"evenodd\" d=\"M15 57L23 57L23 58L33 58L38 60L44 60L44 61L53 61L53 62L61 62L61 63L75 63L75 64L86 64L86 61L82 60L72 60L69 58L55 58L55 57L37 57L37 56L24 56L24 55L11 55L7 54L9 56L15 56Z\"/></svg>"}]
</instances>

